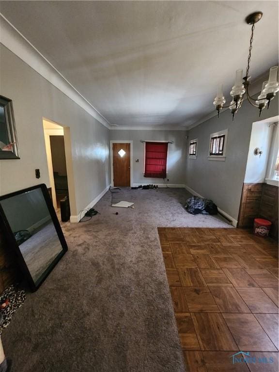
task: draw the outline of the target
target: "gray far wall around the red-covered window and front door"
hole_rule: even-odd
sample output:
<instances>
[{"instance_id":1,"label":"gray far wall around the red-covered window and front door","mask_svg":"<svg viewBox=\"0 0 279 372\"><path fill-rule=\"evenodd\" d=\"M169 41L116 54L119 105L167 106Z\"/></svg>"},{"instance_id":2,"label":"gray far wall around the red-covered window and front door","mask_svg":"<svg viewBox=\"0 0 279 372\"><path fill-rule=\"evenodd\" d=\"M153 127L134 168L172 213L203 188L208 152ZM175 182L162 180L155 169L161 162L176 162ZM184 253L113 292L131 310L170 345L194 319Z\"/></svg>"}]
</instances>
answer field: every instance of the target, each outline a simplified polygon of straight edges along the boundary
<instances>
[{"instance_id":1,"label":"gray far wall around the red-covered window and front door","mask_svg":"<svg viewBox=\"0 0 279 372\"><path fill-rule=\"evenodd\" d=\"M145 178L143 176L144 143L140 140L174 141L169 144L167 160L167 178L169 184L185 183L186 163L186 132L169 130L111 130L111 140L133 140L133 182L134 184L163 184L160 178ZM139 159L139 163L136 163Z\"/></svg>"}]
</instances>

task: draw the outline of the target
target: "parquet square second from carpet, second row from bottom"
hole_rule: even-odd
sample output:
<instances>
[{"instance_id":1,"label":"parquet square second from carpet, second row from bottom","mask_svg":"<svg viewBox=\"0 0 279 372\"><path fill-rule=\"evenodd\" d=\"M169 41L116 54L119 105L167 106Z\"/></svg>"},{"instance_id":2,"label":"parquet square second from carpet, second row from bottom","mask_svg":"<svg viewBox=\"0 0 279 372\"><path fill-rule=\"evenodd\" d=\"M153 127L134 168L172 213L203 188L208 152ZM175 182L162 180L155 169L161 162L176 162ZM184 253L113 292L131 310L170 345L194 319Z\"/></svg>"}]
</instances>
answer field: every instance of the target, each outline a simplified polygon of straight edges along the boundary
<instances>
[{"instance_id":1,"label":"parquet square second from carpet, second row from bottom","mask_svg":"<svg viewBox=\"0 0 279 372\"><path fill-rule=\"evenodd\" d=\"M191 313L201 350L237 350L238 347L221 314Z\"/></svg>"}]
</instances>

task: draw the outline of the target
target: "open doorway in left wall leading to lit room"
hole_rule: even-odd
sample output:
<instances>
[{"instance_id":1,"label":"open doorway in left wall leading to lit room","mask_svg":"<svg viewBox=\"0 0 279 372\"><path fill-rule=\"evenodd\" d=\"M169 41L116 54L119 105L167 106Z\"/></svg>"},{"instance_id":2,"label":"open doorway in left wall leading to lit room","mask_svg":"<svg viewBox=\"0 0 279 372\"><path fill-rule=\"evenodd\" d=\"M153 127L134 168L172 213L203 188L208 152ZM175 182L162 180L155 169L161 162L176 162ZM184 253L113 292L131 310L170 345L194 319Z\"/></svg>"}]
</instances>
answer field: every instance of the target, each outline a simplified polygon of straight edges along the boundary
<instances>
[{"instance_id":1,"label":"open doorway in left wall leading to lit room","mask_svg":"<svg viewBox=\"0 0 279 372\"><path fill-rule=\"evenodd\" d=\"M56 210L69 198L71 215L76 214L70 128L43 119L51 198Z\"/></svg>"}]
</instances>

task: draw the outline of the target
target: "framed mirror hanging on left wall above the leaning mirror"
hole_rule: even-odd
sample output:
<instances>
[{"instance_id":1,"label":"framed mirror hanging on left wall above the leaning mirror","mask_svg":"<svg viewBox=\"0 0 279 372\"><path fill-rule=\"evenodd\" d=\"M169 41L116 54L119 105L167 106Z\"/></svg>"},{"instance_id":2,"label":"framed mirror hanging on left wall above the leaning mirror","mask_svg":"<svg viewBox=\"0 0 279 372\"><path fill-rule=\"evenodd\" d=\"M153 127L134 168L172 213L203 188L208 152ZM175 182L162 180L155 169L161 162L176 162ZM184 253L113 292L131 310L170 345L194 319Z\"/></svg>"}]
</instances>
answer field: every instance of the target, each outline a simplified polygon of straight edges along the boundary
<instances>
[{"instance_id":1,"label":"framed mirror hanging on left wall above the leaning mirror","mask_svg":"<svg viewBox=\"0 0 279 372\"><path fill-rule=\"evenodd\" d=\"M0 95L0 160L19 159L12 100Z\"/></svg>"}]
</instances>

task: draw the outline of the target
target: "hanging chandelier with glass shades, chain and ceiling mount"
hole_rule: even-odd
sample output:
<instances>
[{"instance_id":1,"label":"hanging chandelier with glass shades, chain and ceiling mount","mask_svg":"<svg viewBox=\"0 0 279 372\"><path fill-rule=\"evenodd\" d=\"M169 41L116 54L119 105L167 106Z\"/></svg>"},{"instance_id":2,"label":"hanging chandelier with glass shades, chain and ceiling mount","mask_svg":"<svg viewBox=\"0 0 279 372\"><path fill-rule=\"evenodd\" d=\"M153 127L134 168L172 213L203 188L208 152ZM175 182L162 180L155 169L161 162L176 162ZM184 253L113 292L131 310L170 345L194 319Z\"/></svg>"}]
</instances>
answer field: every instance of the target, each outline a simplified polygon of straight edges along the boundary
<instances>
[{"instance_id":1,"label":"hanging chandelier with glass shades, chain and ceiling mount","mask_svg":"<svg viewBox=\"0 0 279 372\"><path fill-rule=\"evenodd\" d=\"M277 73L278 73L278 66L271 67L269 70L269 79L268 81L263 82L261 94L258 96L258 99L253 99L249 94L249 85L250 85L250 76L249 76L249 68L250 68L250 60L251 60L251 50L252 50L252 43L253 43L253 36L255 30L255 23L257 23L263 16L262 12L255 12L250 14L245 18L245 21L248 25L252 25L251 30L251 37L250 37L250 47L249 47L249 54L248 54L248 64L246 69L246 76L243 78L243 70L236 70L235 73L235 83L233 85L231 96L233 97L232 102L228 106L224 106L226 100L223 96L223 89L222 85L218 87L217 96L213 104L215 105L218 111L218 117L220 115L220 110L224 108L230 108L233 119L234 114L241 108L242 103L244 101L245 94L247 95L248 102L257 107L260 111L259 116L261 116L262 110L266 107L269 108L270 101L275 97L276 93L279 91L279 83L277 81Z\"/></svg>"}]
</instances>

